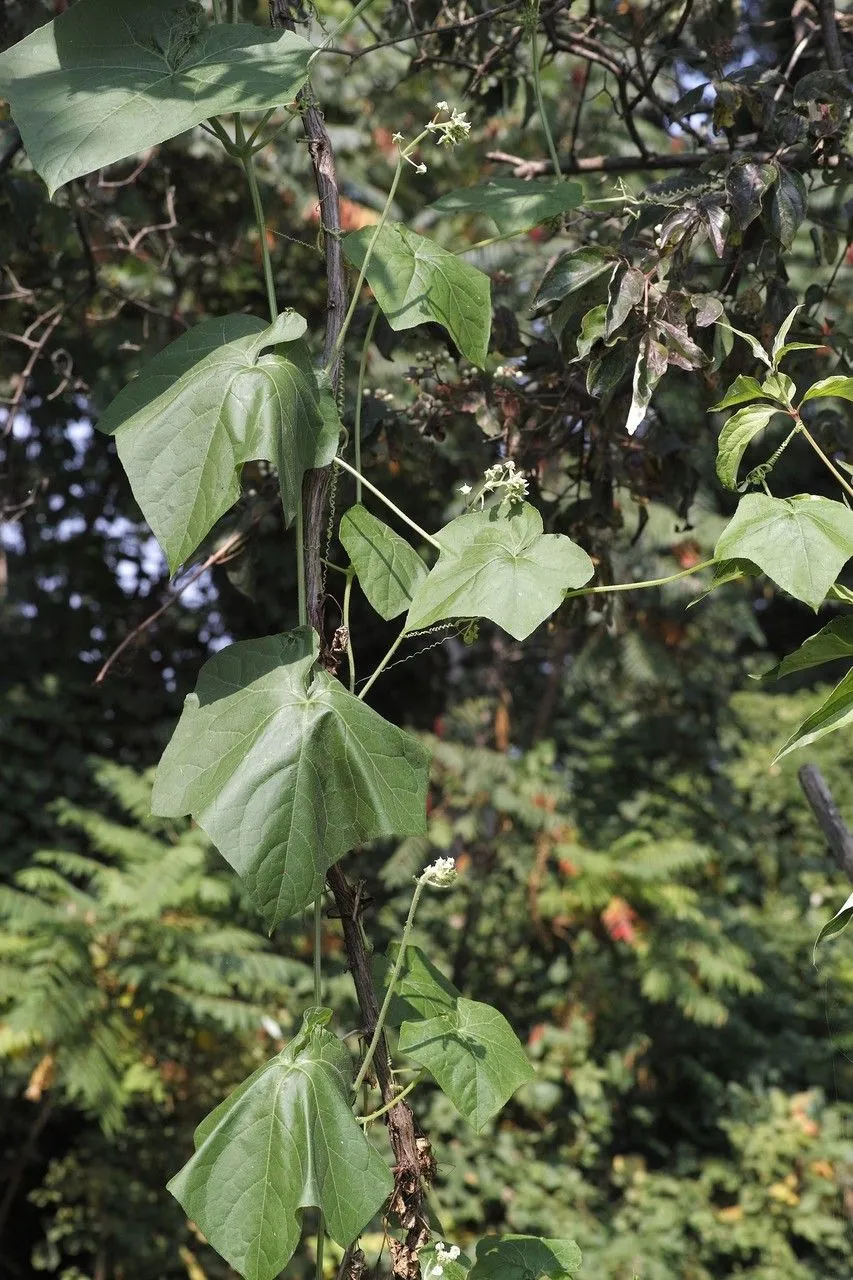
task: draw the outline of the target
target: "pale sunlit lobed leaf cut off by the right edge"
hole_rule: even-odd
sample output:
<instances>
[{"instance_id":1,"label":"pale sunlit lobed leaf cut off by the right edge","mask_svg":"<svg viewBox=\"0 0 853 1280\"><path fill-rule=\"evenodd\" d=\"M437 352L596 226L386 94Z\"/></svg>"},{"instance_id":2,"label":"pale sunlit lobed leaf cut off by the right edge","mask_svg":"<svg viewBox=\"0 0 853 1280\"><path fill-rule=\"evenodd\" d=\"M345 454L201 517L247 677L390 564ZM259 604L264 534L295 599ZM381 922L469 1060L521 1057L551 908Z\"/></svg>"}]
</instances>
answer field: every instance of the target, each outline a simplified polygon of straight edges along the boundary
<instances>
[{"instance_id":1,"label":"pale sunlit lobed leaf cut off by the right edge","mask_svg":"<svg viewBox=\"0 0 853 1280\"><path fill-rule=\"evenodd\" d=\"M829 498L751 493L720 535L716 559L749 559L817 609L853 556L853 511Z\"/></svg>"}]
</instances>

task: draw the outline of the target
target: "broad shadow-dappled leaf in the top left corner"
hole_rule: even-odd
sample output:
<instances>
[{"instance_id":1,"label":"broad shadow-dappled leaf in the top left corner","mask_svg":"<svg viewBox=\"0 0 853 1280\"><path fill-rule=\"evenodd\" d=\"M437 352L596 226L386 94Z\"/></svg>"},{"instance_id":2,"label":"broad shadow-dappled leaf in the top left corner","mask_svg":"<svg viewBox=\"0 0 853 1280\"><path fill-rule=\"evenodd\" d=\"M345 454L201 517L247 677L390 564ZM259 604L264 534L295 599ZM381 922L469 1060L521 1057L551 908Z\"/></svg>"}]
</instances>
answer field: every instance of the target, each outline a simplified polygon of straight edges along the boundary
<instances>
[{"instance_id":1,"label":"broad shadow-dappled leaf in the top left corner","mask_svg":"<svg viewBox=\"0 0 853 1280\"><path fill-rule=\"evenodd\" d=\"M291 101L313 52L289 31L209 27L186 0L77 0L0 56L0 96L53 195L207 116Z\"/></svg>"}]
</instances>

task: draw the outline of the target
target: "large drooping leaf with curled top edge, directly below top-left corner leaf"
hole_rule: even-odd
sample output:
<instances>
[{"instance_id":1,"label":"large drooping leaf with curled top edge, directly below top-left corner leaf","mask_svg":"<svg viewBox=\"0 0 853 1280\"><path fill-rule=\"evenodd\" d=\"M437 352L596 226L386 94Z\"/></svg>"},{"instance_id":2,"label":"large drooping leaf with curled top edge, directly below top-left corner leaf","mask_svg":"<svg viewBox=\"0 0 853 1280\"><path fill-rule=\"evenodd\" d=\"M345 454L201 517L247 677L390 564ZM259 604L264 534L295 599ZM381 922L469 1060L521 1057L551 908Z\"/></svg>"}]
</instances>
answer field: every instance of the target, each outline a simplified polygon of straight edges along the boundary
<instances>
[{"instance_id":1,"label":"large drooping leaf with curled top edge, directly below top-left corner leaf","mask_svg":"<svg viewBox=\"0 0 853 1280\"><path fill-rule=\"evenodd\" d=\"M155 356L101 416L173 571L240 497L245 462L278 467L291 521L304 472L332 461L337 429L320 413L304 333L293 311L272 325L206 320Z\"/></svg>"}]
</instances>

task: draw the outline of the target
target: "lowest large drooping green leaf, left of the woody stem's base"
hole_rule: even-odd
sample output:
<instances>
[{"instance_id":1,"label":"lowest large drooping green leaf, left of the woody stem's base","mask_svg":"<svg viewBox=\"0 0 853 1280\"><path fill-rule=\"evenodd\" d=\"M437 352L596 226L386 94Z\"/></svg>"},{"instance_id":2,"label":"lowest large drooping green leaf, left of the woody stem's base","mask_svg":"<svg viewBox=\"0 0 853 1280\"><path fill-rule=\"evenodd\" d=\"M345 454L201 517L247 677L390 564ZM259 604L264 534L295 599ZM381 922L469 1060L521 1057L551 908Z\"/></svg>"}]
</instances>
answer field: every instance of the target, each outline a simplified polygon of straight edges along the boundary
<instances>
[{"instance_id":1,"label":"lowest large drooping green leaf, left of the woody stem's base","mask_svg":"<svg viewBox=\"0 0 853 1280\"><path fill-rule=\"evenodd\" d=\"M352 1115L347 1050L309 1010L302 1034L196 1130L196 1153L169 1183L187 1217L243 1276L273 1280L319 1208L350 1244L393 1189L391 1170Z\"/></svg>"}]
</instances>

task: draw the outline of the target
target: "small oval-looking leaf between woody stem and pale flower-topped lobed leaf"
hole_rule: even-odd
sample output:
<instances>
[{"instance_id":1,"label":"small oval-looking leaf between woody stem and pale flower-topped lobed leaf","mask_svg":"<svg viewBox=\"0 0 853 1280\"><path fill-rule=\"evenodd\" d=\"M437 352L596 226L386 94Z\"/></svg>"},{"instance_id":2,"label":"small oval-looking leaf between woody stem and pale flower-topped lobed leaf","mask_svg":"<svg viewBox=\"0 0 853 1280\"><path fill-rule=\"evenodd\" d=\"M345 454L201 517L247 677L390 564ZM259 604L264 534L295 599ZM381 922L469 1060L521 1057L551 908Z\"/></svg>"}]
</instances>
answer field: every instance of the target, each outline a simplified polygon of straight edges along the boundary
<instances>
[{"instance_id":1,"label":"small oval-looking leaf between woody stem and pale flower-topped lobed leaf","mask_svg":"<svg viewBox=\"0 0 853 1280\"><path fill-rule=\"evenodd\" d=\"M403 613L426 577L418 552L361 504L343 513L338 536L379 617L389 621Z\"/></svg>"}]
</instances>

